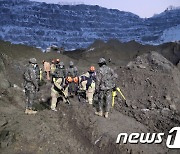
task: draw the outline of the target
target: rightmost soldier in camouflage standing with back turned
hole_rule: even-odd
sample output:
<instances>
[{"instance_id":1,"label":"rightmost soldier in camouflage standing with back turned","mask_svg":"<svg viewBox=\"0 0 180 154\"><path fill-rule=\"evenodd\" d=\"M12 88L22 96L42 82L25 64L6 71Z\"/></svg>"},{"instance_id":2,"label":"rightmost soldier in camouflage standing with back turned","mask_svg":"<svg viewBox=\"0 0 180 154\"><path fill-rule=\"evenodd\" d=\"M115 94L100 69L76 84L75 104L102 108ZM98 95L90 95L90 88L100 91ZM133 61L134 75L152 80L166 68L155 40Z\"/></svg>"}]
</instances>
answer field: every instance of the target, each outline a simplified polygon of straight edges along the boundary
<instances>
[{"instance_id":1,"label":"rightmost soldier in camouflage standing with back turned","mask_svg":"<svg viewBox=\"0 0 180 154\"><path fill-rule=\"evenodd\" d=\"M99 69L96 75L96 92L98 94L98 108L99 111L95 112L96 115L103 116L103 106L104 116L108 118L108 113L111 106L112 90L116 86L115 79L117 79L117 74L114 70L107 66L106 60L104 58L99 59Z\"/></svg>"}]
</instances>

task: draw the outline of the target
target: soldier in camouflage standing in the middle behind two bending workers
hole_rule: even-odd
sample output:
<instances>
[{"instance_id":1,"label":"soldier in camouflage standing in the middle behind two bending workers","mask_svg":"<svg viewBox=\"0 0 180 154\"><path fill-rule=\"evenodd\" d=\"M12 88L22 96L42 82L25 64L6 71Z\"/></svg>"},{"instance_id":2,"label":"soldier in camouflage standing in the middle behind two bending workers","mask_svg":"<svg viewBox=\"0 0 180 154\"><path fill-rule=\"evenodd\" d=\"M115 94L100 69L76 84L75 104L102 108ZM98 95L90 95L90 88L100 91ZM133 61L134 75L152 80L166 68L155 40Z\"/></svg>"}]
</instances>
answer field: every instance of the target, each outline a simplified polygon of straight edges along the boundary
<instances>
[{"instance_id":1,"label":"soldier in camouflage standing in the middle behind two bending workers","mask_svg":"<svg viewBox=\"0 0 180 154\"><path fill-rule=\"evenodd\" d=\"M67 76L70 76L71 78L75 78L78 76L78 69L76 66L74 66L74 63L72 61L69 62L69 68L67 69ZM77 91L77 84L74 82L71 82L69 85L69 94L70 96L73 96Z\"/></svg>"}]
</instances>

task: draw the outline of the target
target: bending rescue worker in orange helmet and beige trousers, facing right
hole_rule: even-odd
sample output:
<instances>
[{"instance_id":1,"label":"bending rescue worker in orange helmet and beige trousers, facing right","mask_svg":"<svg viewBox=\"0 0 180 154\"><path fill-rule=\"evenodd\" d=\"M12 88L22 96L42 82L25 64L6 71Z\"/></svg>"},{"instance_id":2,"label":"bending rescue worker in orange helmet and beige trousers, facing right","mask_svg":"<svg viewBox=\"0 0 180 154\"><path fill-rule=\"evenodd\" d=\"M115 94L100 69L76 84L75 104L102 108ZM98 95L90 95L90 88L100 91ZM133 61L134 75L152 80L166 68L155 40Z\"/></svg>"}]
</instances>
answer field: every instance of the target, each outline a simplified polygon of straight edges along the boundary
<instances>
[{"instance_id":1,"label":"bending rescue worker in orange helmet and beige trousers, facing right","mask_svg":"<svg viewBox=\"0 0 180 154\"><path fill-rule=\"evenodd\" d=\"M52 97L51 110L57 111L56 104L57 104L57 99L59 97L62 97L64 103L70 104L68 99L68 88L69 88L69 83L71 82L72 82L71 77L67 77L67 78L62 77L54 82L51 88L51 97Z\"/></svg>"}]
</instances>

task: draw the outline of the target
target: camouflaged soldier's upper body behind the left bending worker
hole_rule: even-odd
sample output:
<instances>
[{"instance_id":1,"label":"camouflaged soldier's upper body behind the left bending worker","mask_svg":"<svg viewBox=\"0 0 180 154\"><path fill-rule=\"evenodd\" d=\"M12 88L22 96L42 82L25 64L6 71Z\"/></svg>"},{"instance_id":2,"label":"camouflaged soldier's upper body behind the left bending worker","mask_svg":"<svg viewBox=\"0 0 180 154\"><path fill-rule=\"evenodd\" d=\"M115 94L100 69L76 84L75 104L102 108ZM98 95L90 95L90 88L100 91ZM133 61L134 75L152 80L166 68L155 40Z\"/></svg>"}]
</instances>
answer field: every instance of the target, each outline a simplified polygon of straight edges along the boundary
<instances>
[{"instance_id":1,"label":"camouflaged soldier's upper body behind the left bending worker","mask_svg":"<svg viewBox=\"0 0 180 154\"><path fill-rule=\"evenodd\" d=\"M54 71L53 82L56 81L58 78L65 78L65 77L66 77L66 69L64 63L61 61L57 66L56 70Z\"/></svg>"}]
</instances>

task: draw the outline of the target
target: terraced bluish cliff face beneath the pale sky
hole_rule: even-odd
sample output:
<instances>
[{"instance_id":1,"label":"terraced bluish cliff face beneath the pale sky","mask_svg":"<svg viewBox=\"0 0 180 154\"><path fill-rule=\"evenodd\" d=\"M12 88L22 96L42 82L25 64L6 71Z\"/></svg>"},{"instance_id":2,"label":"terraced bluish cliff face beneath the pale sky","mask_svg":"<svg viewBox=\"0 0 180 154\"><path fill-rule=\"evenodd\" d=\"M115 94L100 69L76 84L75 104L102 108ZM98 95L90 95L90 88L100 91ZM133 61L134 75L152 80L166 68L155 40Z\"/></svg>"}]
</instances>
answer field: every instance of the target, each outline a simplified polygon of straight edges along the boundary
<instances>
[{"instance_id":1,"label":"terraced bluish cliff face beneath the pale sky","mask_svg":"<svg viewBox=\"0 0 180 154\"><path fill-rule=\"evenodd\" d=\"M160 43L163 31L180 24L180 9L142 19L130 12L88 5L28 0L0 1L0 39L46 48L87 47L96 39Z\"/></svg>"}]
</instances>

